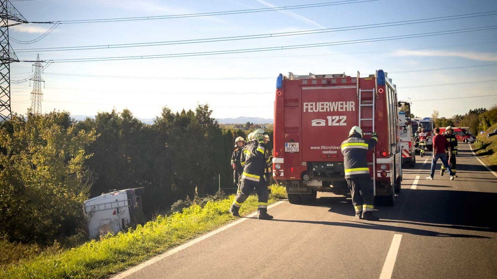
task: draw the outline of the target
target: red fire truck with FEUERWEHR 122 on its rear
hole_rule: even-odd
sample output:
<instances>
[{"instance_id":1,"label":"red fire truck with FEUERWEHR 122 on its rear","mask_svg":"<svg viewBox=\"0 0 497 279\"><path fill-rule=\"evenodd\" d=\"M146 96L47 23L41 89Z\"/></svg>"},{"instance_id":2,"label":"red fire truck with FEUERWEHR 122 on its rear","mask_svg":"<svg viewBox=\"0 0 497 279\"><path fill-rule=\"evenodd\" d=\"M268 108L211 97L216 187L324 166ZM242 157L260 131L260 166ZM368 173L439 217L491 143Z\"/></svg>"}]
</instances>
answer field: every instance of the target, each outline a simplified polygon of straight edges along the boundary
<instances>
[{"instance_id":1,"label":"red fire truck with FEUERWEHR 122 on its rear","mask_svg":"<svg viewBox=\"0 0 497 279\"><path fill-rule=\"evenodd\" d=\"M273 178L292 204L318 191L346 195L340 144L353 126L378 133L368 164L377 202L392 206L402 181L396 86L383 70L367 77L280 74L274 102Z\"/></svg>"}]
</instances>

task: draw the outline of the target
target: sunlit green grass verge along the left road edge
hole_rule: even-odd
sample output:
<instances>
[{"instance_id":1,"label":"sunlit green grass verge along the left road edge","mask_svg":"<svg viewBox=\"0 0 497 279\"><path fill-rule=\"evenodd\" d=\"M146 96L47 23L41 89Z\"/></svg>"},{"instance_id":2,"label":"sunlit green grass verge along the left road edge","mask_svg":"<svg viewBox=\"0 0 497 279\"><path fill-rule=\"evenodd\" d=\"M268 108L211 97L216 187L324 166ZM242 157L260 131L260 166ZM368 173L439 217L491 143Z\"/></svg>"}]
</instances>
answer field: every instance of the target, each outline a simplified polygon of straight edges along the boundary
<instances>
[{"instance_id":1,"label":"sunlit green grass verge along the left road edge","mask_svg":"<svg viewBox=\"0 0 497 279\"><path fill-rule=\"evenodd\" d=\"M269 203L286 197L284 187L272 186L271 191ZM233 198L208 202L204 208L193 205L181 213L160 215L136 229L108 234L55 255L21 260L2 268L0 278L103 278L234 220L228 211ZM240 213L246 215L256 208L257 197L250 196Z\"/></svg>"}]
</instances>

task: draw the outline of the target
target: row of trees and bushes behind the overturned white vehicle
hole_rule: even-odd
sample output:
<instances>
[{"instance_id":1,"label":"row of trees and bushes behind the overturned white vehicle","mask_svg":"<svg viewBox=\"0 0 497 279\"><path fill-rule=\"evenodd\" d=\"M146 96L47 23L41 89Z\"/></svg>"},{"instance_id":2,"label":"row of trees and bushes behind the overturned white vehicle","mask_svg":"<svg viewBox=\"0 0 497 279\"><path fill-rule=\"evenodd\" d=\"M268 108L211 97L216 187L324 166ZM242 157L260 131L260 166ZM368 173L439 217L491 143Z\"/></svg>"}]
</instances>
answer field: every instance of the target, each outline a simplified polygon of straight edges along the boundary
<instances>
[{"instance_id":1,"label":"row of trees and bushes behind the overturned white vehicle","mask_svg":"<svg viewBox=\"0 0 497 279\"><path fill-rule=\"evenodd\" d=\"M218 175L232 187L239 136L246 133L221 129L208 105L165 107L152 125L129 110L83 121L68 112L14 115L0 126L0 237L48 244L84 236L84 200L113 189L145 187L142 206L152 217L215 194Z\"/></svg>"}]
</instances>

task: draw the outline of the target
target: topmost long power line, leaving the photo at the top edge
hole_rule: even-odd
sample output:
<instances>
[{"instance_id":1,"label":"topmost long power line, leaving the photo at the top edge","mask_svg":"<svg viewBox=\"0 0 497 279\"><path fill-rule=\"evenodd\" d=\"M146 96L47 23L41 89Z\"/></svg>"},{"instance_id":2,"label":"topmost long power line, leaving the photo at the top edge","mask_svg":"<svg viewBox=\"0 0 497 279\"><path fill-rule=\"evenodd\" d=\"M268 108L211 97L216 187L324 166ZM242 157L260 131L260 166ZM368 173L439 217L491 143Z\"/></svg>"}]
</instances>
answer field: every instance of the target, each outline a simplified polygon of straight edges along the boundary
<instances>
[{"instance_id":1,"label":"topmost long power line, leaving the photo at the top edge","mask_svg":"<svg viewBox=\"0 0 497 279\"><path fill-rule=\"evenodd\" d=\"M379 0L341 0L341 1L332 1L332 2L322 2L322 3L313 3L313 4L303 4L303 5L291 5L291 6L279 6L279 7L268 7L268 8L257 8L257 9L242 9L242 10L214 11L214 12L186 13L186 14L172 14L172 15L158 15L158 16L57 20L55 22L58 22L61 24L67 24L67 23L93 23L93 22L171 19L171 18L213 16L213 15L226 15L226 14L254 13L254 12L264 12L264 11L278 11L278 10L288 10L288 9L302 9L302 8L334 6L334 5L373 2L373 1L379 1Z\"/></svg>"}]
</instances>

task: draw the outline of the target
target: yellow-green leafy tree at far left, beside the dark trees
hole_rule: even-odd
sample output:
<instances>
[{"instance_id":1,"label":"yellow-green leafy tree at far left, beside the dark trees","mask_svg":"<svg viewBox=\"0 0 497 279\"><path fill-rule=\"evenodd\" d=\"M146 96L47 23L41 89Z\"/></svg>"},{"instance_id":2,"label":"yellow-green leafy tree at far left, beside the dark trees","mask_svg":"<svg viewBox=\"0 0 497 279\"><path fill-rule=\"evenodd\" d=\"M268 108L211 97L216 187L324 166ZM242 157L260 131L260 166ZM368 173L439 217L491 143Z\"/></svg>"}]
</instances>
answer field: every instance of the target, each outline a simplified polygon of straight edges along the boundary
<instances>
[{"instance_id":1,"label":"yellow-green leafy tree at far left, beside the dark trees","mask_svg":"<svg viewBox=\"0 0 497 279\"><path fill-rule=\"evenodd\" d=\"M14 114L0 128L0 235L40 243L74 234L91 184L85 149L94 130L75 129L67 112Z\"/></svg>"}]
</instances>

